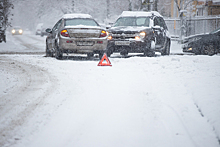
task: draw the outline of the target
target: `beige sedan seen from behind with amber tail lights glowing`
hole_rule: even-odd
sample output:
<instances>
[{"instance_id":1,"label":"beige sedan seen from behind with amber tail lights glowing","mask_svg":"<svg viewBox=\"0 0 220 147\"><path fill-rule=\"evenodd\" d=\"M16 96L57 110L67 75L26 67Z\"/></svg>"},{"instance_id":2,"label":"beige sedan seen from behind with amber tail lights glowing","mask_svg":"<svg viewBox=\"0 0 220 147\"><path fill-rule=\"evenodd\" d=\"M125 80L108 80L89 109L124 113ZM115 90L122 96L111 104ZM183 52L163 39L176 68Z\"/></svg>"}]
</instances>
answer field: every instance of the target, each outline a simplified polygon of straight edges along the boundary
<instances>
[{"instance_id":1,"label":"beige sedan seen from behind with amber tail lights glowing","mask_svg":"<svg viewBox=\"0 0 220 147\"><path fill-rule=\"evenodd\" d=\"M64 53L87 54L101 58L107 48L107 32L89 14L65 14L50 29L46 38L46 56L62 59Z\"/></svg>"}]
</instances>

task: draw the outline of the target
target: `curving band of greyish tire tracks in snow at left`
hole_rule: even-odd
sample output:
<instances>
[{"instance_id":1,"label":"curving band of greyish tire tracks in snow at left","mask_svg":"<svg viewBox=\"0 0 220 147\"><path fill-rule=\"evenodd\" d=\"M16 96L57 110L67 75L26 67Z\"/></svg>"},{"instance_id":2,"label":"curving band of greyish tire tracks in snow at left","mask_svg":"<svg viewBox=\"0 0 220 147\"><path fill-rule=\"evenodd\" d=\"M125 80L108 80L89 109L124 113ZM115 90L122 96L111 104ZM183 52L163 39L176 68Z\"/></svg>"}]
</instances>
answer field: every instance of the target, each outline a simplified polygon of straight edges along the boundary
<instances>
[{"instance_id":1,"label":"curving band of greyish tire tracks in snow at left","mask_svg":"<svg viewBox=\"0 0 220 147\"><path fill-rule=\"evenodd\" d=\"M16 85L0 97L0 146L6 147L22 138L20 129L37 108L45 105L51 91L56 89L57 80L46 70L31 64L3 56L0 62L0 67L12 72L17 79Z\"/></svg>"}]
</instances>

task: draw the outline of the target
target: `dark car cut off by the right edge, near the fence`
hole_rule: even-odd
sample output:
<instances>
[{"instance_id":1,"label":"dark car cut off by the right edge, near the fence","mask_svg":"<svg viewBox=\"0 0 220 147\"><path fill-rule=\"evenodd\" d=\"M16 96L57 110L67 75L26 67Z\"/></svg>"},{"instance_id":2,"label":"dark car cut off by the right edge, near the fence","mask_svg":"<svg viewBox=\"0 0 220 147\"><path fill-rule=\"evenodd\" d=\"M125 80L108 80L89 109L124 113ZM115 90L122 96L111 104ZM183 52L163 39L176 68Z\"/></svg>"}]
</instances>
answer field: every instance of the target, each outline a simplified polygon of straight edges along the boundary
<instances>
[{"instance_id":1,"label":"dark car cut off by the right edge, near the fence","mask_svg":"<svg viewBox=\"0 0 220 147\"><path fill-rule=\"evenodd\" d=\"M217 54L220 52L220 28L209 34L186 37L183 43L183 52L210 56Z\"/></svg>"}]
</instances>

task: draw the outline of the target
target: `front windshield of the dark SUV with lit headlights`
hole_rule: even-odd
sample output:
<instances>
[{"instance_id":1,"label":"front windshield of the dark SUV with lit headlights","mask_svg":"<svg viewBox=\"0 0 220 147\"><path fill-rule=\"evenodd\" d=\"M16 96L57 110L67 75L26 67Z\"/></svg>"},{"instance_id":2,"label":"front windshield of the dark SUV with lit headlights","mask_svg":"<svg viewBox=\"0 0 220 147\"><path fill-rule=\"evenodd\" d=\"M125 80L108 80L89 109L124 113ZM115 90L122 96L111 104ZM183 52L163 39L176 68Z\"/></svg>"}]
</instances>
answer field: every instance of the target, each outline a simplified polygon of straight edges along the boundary
<instances>
[{"instance_id":1,"label":"front windshield of the dark SUV with lit headlights","mask_svg":"<svg viewBox=\"0 0 220 147\"><path fill-rule=\"evenodd\" d=\"M149 17L121 17L115 22L115 27L118 26L145 26L149 27Z\"/></svg>"}]
</instances>

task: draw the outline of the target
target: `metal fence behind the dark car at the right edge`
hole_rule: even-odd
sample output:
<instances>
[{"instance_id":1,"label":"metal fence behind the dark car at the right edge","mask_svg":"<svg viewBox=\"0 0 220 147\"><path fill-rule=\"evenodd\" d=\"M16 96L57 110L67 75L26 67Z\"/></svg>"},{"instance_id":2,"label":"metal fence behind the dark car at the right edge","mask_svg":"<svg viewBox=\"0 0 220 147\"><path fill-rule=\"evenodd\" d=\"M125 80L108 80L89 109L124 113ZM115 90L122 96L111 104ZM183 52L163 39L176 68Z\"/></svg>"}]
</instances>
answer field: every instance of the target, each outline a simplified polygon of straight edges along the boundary
<instances>
[{"instance_id":1,"label":"metal fence behind the dark car at the right edge","mask_svg":"<svg viewBox=\"0 0 220 147\"><path fill-rule=\"evenodd\" d=\"M165 22L172 37L178 38L180 36L180 19L166 18ZM220 27L220 16L215 17L193 17L185 18L183 21L184 36L209 33Z\"/></svg>"}]
</instances>

